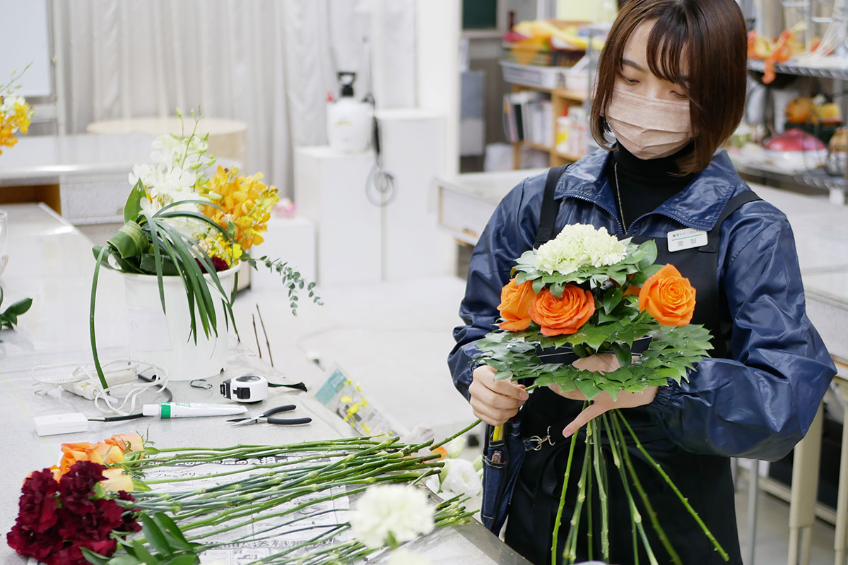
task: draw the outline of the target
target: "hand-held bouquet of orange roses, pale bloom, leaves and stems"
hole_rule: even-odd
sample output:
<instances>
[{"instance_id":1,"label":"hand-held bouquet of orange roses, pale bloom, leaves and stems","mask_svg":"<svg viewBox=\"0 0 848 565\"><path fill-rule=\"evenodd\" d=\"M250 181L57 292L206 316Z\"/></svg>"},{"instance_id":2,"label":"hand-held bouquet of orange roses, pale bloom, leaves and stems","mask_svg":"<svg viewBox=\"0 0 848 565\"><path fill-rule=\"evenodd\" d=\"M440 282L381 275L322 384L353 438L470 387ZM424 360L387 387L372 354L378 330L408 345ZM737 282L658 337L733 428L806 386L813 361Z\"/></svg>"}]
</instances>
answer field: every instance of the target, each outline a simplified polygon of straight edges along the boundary
<instances>
[{"instance_id":1,"label":"hand-held bouquet of orange roses, pale bloom, leaves and stems","mask_svg":"<svg viewBox=\"0 0 848 565\"><path fill-rule=\"evenodd\" d=\"M530 379L528 391L538 386L558 385L565 392L579 390L589 401L601 393L615 400L622 391L639 392L650 386L667 385L667 379L680 382L695 363L707 356L711 335L703 326L689 324L695 311L695 288L689 280L673 265L656 265L655 261L653 241L636 245L630 239L619 241L605 228L595 229L585 224L566 226L555 239L518 258L514 278L501 291L499 330L478 342L480 356L475 362L494 368L495 379ZM579 357L600 352L615 354L620 367L601 374L572 365ZM628 496L633 531L639 532L649 557L654 558L631 485L672 561L680 562L633 470L625 446L625 431L662 479L672 486L722 557L728 559L689 502L644 450L623 414L613 410L588 424L577 503L566 537L567 562L576 559L583 501L587 490L592 491L593 480L598 483L595 491L601 499L602 557L608 561L605 505L608 477L599 464L603 460L602 427L610 440L613 460ZM553 562L556 562L557 536L576 441L577 434L572 435L551 548ZM591 524L589 520L590 539ZM636 546L633 551L638 551Z\"/></svg>"}]
</instances>

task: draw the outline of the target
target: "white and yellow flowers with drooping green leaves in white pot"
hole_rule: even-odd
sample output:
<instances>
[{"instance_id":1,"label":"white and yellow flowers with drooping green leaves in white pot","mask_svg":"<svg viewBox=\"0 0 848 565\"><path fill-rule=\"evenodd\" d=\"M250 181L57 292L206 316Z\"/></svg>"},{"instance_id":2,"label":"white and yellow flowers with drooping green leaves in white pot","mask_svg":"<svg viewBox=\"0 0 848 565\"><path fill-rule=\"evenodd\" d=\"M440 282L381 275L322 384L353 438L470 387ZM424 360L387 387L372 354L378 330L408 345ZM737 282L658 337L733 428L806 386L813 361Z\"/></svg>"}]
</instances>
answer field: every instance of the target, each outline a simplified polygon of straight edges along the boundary
<instances>
[{"instance_id":1,"label":"white and yellow flowers with drooping green leaves in white pot","mask_svg":"<svg viewBox=\"0 0 848 565\"><path fill-rule=\"evenodd\" d=\"M182 118L179 112L177 116ZM180 277L192 313L190 335L195 342L198 325L207 338L217 335L213 292L224 306L227 324L232 322L235 329L234 295L229 289L224 290L217 273L235 269L240 263L248 263L254 269L262 264L280 274L293 314L297 314L298 291L305 289L314 302L321 304L314 291L315 283L307 285L296 269L280 259L249 255L248 250L263 241L262 234L267 230L271 209L280 199L279 192L262 182L261 173L243 176L236 167L225 169L218 165L214 174L207 177L215 166L215 158L207 154L209 134L198 135L201 116L192 111L192 117L194 130L190 135L186 136L183 130L179 136L159 136L153 141L154 164L133 167L129 175L132 189L124 206L124 225L105 246L93 249L97 265L92 280L90 331L94 364L104 391L108 385L94 333L101 267L156 276L163 312L162 277ZM238 280L237 273L235 277Z\"/></svg>"}]
</instances>

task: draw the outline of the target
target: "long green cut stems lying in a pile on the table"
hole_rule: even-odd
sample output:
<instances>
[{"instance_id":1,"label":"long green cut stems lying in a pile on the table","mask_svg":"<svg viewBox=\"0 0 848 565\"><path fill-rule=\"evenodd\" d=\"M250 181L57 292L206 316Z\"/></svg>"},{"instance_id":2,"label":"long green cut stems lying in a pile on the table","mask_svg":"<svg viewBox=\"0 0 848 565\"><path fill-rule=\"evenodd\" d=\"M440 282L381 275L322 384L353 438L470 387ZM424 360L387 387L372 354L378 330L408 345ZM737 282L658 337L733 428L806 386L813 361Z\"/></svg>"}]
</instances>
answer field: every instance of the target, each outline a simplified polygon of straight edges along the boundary
<instances>
[{"instance_id":1,"label":"long green cut stems lying in a pile on the table","mask_svg":"<svg viewBox=\"0 0 848 565\"><path fill-rule=\"evenodd\" d=\"M436 446L403 444L397 437L316 440L285 446L148 447L144 457L121 463L138 479L148 471L175 465L193 466L227 459L259 463L237 465L232 471L214 474L143 479L151 490L137 491L134 493L136 501L126 506L148 515L158 512L169 515L189 542L202 545L198 551L224 545L215 540L246 526L252 527L249 535L228 539L226 544L273 538L282 531L313 530L315 535L311 538L264 557L260 562L263 565L351 563L378 550L356 540L334 542L349 529L349 523L316 525L315 517L337 512L332 508L332 501L356 496L370 485L417 484L438 474L443 466L437 461L438 454L428 450L423 455L418 454L427 447ZM200 486L208 485L210 480L214 486ZM156 491L157 485L178 483L185 488L173 492ZM455 496L439 503L433 515L436 526L468 522L473 512L466 511L466 500L466 497ZM310 512L310 507L328 502L330 509L315 508Z\"/></svg>"}]
</instances>

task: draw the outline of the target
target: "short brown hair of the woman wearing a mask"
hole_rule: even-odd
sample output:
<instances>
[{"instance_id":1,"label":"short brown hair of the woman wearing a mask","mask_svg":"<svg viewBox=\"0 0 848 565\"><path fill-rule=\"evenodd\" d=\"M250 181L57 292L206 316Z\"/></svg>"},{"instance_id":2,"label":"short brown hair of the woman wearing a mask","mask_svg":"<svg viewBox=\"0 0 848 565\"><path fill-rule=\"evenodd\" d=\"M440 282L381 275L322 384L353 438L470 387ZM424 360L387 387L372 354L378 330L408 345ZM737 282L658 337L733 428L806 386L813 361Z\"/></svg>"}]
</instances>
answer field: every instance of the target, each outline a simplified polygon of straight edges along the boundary
<instances>
[{"instance_id":1,"label":"short brown hair of the woman wearing a mask","mask_svg":"<svg viewBox=\"0 0 848 565\"><path fill-rule=\"evenodd\" d=\"M622 69L628 38L645 21L656 20L648 36L650 72L686 90L695 151L681 159L683 173L706 168L713 152L727 141L745 112L747 33L734 0L628 0L612 25L598 62L592 102L592 136L601 147L610 131L604 115ZM683 79L681 58L689 63Z\"/></svg>"}]
</instances>

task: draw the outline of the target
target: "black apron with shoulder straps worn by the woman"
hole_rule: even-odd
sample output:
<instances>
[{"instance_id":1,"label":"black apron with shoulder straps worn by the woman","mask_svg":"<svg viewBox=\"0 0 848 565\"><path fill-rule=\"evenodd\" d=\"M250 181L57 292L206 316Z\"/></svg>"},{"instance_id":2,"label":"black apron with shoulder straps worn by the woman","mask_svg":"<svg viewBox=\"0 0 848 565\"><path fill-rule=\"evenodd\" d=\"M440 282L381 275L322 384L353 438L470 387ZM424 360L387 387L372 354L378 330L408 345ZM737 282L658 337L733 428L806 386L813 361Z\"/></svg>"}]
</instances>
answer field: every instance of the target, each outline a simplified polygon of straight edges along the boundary
<instances>
[{"instance_id":1,"label":"black apron with shoulder straps worn by the woman","mask_svg":"<svg viewBox=\"0 0 848 565\"><path fill-rule=\"evenodd\" d=\"M554 199L556 180L564 168L552 169L542 202L536 246L552 239L555 233L556 213L559 202ZM745 202L760 200L752 191L745 191L731 198L725 206L715 227L708 233L705 246L668 252L667 242L657 239L656 263L672 263L684 277L688 278L697 292L697 302L693 315L693 324L704 324L713 335L712 357L728 357L731 324L727 310L727 301L722 296L717 280L717 252L719 230L722 222ZM633 241L641 243L650 238L634 236ZM537 565L550 563L550 542L554 529L556 510L562 490L562 480L566 469L568 446L571 440L562 437L562 429L577 416L583 407L582 402L570 401L547 388L537 389L522 409L522 434L525 438L536 436L544 438L550 435L555 442L528 442L538 449L527 451L522 468L512 493L509 520L506 525L505 540L513 549ZM727 457L695 455L683 450L669 440L661 427L652 420L647 407L622 410L633 427L640 442L654 459L661 464L678 489L689 499L689 503L698 512L707 527L730 556L729 563L742 565L739 555L739 535L736 529L736 511L734 507L734 485L730 474L730 460ZM584 427L585 428L585 427ZM627 435L627 431L625 431ZM602 435L602 451L605 457L606 474L609 477L609 540L610 562L616 565L628 565L633 562L633 540L630 522L630 509L627 496L622 488L621 478L612 463L612 455L605 435ZM557 555L561 560L563 544L568 532L577 496L577 479L582 468L585 439L584 429L579 432L574 450L572 470L566 492L566 506L562 513ZM644 486L657 518L665 530L672 547L677 551L683 565L707 565L725 563L707 540L695 519L683 507L678 497L666 485L636 448L628 444L628 453L636 474ZM595 494L597 492L595 487ZM633 490L631 488L631 490ZM665 548L654 532L642 506L639 496L633 491L639 512L643 516L645 530L650 546L658 562L670 563ZM600 505L598 497L593 495L585 505L592 503L593 516L593 553L595 559L601 558L600 552ZM580 527L580 543L577 548L577 562L589 559L586 510ZM639 542L639 562L648 562Z\"/></svg>"}]
</instances>

